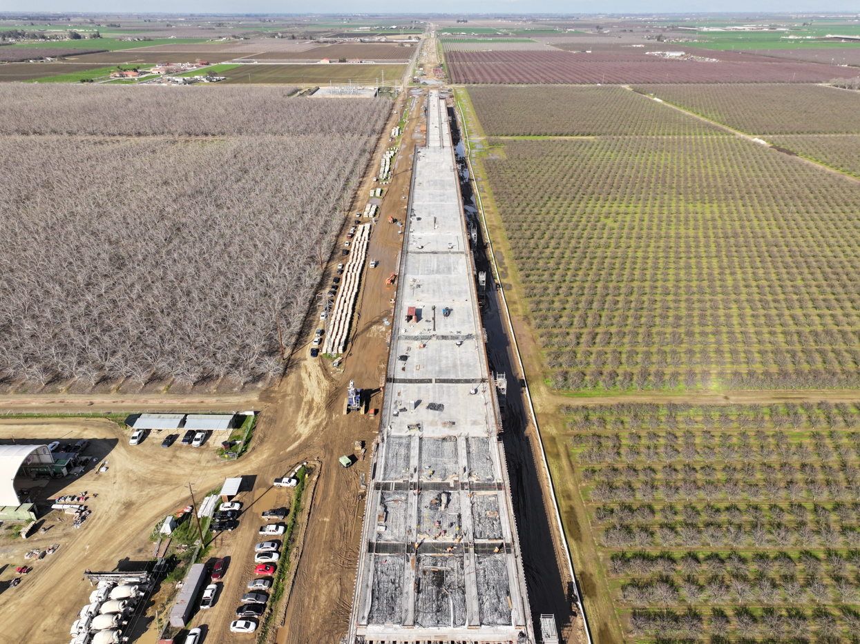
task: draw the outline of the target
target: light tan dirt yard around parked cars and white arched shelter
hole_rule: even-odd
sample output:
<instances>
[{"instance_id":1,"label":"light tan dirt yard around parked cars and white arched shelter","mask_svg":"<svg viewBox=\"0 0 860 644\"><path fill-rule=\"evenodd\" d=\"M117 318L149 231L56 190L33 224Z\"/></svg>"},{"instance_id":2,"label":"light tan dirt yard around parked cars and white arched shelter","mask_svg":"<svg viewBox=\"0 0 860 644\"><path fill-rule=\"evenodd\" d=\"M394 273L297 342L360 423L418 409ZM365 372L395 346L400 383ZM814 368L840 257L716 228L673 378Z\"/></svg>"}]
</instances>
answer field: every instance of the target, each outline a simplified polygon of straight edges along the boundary
<instances>
[{"instance_id":1,"label":"light tan dirt yard around parked cars and white arched shelter","mask_svg":"<svg viewBox=\"0 0 860 644\"><path fill-rule=\"evenodd\" d=\"M285 475L294 461L289 460L288 451L279 441L267 440L264 422L256 430L257 443L252 443L252 451L233 463L218 461L212 439L202 448L180 445L177 441L163 449L161 443L167 432L153 432L138 446L128 445L129 434L112 420L0 422L0 444L8 445L13 436L18 444L89 439L86 454L98 459L82 475L66 476L40 488L39 500L84 491L90 497L97 495L86 501L92 514L79 530L71 528L69 515L59 512L47 515L45 534L37 530L26 541L12 537L11 531L0 529L0 629L4 642L64 641L77 611L87 604L92 590L89 582L82 578L85 568L113 570L120 563L137 568L132 562L150 561L153 555L153 543L149 540L151 530L169 512L189 503L189 482L200 493L200 501L207 490L218 487L228 476L255 475L253 490L239 497L249 518L240 522L237 531L216 537L212 554L204 560L231 557L230 571L224 578L227 593L222 589L218 607L209 611L211 616L206 615L213 620L207 642L226 641L229 637L227 625L237 606L237 602L231 601L232 596L241 595L239 578L247 573L245 568L253 567L253 563L249 564L253 562L253 554L248 556L247 553L253 552L254 543L261 540L257 538L262 523L259 520L261 506L289 505L291 491L271 488L271 483L275 476ZM97 466L106 459L107 471L97 473ZM28 562L24 554L31 549L46 549L53 543L59 543L58 551L35 561L33 572L19 586L10 588L9 581L16 576L15 568ZM231 583L233 581L236 583ZM38 616L31 610L37 604L40 605ZM150 602L149 608L153 605ZM222 607L224 610L219 610ZM27 614L32 614L34 619L21 618ZM154 640L154 630L148 636L137 637L151 627L152 622L152 615L132 622L132 641ZM214 628L216 623L217 629Z\"/></svg>"}]
</instances>

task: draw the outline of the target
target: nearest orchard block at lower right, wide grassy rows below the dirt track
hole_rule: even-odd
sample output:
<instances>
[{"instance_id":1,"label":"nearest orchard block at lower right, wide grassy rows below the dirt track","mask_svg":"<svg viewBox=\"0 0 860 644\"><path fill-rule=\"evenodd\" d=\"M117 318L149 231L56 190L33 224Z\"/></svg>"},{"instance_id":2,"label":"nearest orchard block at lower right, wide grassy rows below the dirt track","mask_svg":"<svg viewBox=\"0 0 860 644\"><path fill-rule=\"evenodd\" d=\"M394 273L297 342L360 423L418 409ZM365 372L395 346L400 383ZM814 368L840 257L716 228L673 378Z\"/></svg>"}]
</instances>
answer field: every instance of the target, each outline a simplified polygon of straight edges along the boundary
<instances>
[{"instance_id":1,"label":"nearest orchard block at lower right, wide grassy rows below the dirt track","mask_svg":"<svg viewBox=\"0 0 860 644\"><path fill-rule=\"evenodd\" d=\"M559 411L627 641L855 641L857 405Z\"/></svg>"}]
</instances>

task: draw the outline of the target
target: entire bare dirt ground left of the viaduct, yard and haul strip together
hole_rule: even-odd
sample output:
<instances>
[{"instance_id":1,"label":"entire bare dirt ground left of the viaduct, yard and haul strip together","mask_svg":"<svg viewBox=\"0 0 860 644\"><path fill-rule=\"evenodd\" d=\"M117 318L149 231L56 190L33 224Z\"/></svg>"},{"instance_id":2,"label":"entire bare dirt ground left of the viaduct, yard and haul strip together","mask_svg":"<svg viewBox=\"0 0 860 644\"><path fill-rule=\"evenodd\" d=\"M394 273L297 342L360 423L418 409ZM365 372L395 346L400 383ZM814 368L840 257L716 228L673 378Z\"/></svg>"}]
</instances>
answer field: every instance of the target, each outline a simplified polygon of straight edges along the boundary
<instances>
[{"instance_id":1,"label":"entire bare dirt ground left of the viaduct, yard and haul strip together","mask_svg":"<svg viewBox=\"0 0 860 644\"><path fill-rule=\"evenodd\" d=\"M411 97L402 96L394 104L401 113ZM415 101L420 105L420 101ZM216 488L230 476L253 477L253 489L243 492L243 517L239 528L221 533L203 562L224 557L228 561L224 580L219 583L216 604L210 610L198 611L188 628L200 626L206 644L226 641L256 641L255 635L233 635L229 623L234 610L253 578L254 544L261 541L257 531L260 512L271 507L290 506L292 490L273 488L275 477L286 475L297 463L308 461L311 475L306 488L302 516L297 534L304 539L293 551L295 580L285 607L276 615L272 638L277 641L337 641L346 633L353 599L355 561L363 512L363 492L359 475L368 472L370 459L361 460L350 469L338 464L338 457L356 453L354 442L369 444L375 435L374 420L366 415L342 414L347 384L372 389L371 407L379 407L380 379L384 377L388 327L383 318L390 316L395 286L384 280L396 270L402 242L398 227L388 224L394 217L402 220L406 212L411 150L419 132L420 108L409 117L401 151L396 156L393 176L379 212L368 256L378 259L377 268L365 272L359 295L355 332L342 371L332 368L329 359L310 359L308 347L318 319L311 307L304 328L289 362L286 376L258 395L251 396L3 396L0 414L69 414L86 412L131 413L134 411L243 410L259 412L254 439L249 452L237 462L225 463L215 455L210 439L202 448L180 445L168 449L161 442L168 432L152 432L142 445L128 445L129 432L114 420L89 418L29 418L0 420L0 444L49 442L52 440L89 439L88 455L98 459L79 476L66 476L40 490L40 500L64 494L86 492L92 510L79 530L72 529L67 515L52 512L43 525L42 534L34 531L27 541L12 537L0 529L0 631L3 642L25 644L33 641L64 641L78 610L88 603L92 587L83 579L84 569L93 571L135 568L135 561L151 561L151 531L160 519L190 503L188 484L198 493ZM382 152L391 143L387 133L399 120L392 113L368 165L350 212L360 210L373 184ZM334 275L340 261L333 255L328 277ZM0 417L2 418L2 417ZM107 460L107 471L98 466ZM93 498L93 495L95 498ZM310 504L310 508L308 507ZM15 568L25 564L24 555L32 549L46 549L59 544L55 554L45 555L33 563L34 570L22 583L10 587ZM299 556L300 555L300 556ZM169 590L157 586L147 598L145 614L138 610L126 627L130 641L150 644L157 641L156 610L164 609L163 598ZM289 588L288 588L289 590ZM286 594L286 593L285 593ZM35 611L34 607L39 610ZM159 616L164 617L162 614ZM278 629L284 624L284 628Z\"/></svg>"}]
</instances>

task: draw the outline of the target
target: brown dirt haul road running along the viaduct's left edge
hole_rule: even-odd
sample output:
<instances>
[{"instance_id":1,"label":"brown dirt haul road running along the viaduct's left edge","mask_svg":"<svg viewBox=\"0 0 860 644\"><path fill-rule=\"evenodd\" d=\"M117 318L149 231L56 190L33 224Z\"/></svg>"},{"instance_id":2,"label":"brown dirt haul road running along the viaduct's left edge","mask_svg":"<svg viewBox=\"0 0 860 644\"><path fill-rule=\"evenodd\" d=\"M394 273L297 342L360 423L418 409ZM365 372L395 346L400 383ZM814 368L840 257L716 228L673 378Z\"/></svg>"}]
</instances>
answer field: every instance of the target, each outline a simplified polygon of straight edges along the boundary
<instances>
[{"instance_id":1,"label":"brown dirt haul road running along the viaduct's left edge","mask_svg":"<svg viewBox=\"0 0 860 644\"><path fill-rule=\"evenodd\" d=\"M317 483L304 552L298 562L284 628L278 636L278 641L285 644L339 641L347 632L364 515L364 493L359 487L359 475L364 473L369 479L370 448L376 438L378 420L360 414L344 416L342 408L350 379L355 381L356 387L374 390L372 408L380 408L382 403L379 386L384 381L388 358L385 337L390 331L383 318L390 318L393 309L391 298L396 294L396 285L386 285L385 279L396 271L403 238L398 234L401 227L389 224L388 218L399 222L406 218L408 199L405 197L408 197L411 178L411 155L416 144L424 144L424 134L419 131L419 121L423 124L424 93L411 91L413 94L408 96L408 105L412 109L390 184L382 186L387 191L380 206L379 223L374 226L367 250L368 259L377 259L379 266L365 270L365 282L356 307L358 319L353 323L357 333L347 351L344 372L335 375L326 371L322 374L326 379L336 380L336 386L329 390L327 418L322 424L326 438L323 440L321 436L318 443L326 465ZM401 113L403 101L402 97L396 107ZM381 145L385 149L392 144L383 138ZM378 167L377 155L374 156L370 176L376 174ZM365 177L359 196L367 195L372 187L378 186L369 181L370 176ZM363 210L364 201L359 200L358 206L354 212ZM328 360L323 362L329 364ZM317 363L318 367L321 365L322 362ZM367 456L363 462L359 460L353 467L343 469L336 459L344 454L353 454L355 440L365 441Z\"/></svg>"}]
</instances>

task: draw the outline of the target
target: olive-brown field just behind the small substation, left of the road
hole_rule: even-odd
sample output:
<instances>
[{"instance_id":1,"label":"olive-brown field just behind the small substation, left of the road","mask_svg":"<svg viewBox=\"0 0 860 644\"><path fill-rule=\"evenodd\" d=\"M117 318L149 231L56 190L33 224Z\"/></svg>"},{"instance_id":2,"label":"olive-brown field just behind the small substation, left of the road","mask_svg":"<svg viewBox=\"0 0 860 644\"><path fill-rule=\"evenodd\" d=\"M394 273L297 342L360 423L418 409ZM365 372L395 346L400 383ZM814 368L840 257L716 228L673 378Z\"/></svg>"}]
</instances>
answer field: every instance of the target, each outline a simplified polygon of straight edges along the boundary
<instances>
[{"instance_id":1,"label":"olive-brown field just behind the small substation, left of the road","mask_svg":"<svg viewBox=\"0 0 860 644\"><path fill-rule=\"evenodd\" d=\"M357 83L373 85L377 78L386 82L400 80L406 71L402 64L244 64L227 71L223 83L261 85L323 85Z\"/></svg>"}]
</instances>

